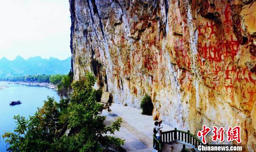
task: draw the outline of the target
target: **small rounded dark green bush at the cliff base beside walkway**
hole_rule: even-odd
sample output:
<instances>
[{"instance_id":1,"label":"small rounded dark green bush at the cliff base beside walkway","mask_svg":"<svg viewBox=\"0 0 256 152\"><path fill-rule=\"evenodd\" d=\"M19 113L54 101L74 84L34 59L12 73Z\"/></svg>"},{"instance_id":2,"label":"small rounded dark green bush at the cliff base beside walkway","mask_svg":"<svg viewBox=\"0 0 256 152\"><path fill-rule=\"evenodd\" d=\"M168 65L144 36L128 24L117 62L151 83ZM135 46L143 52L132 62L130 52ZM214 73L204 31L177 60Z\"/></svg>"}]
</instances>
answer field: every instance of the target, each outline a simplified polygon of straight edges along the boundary
<instances>
[{"instance_id":1,"label":"small rounded dark green bush at the cliff base beside walkway","mask_svg":"<svg viewBox=\"0 0 256 152\"><path fill-rule=\"evenodd\" d=\"M143 115L152 115L154 106L149 95L146 94L146 96L142 99L140 107L142 108Z\"/></svg>"}]
</instances>

